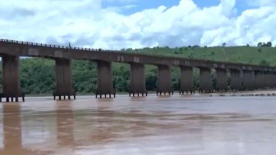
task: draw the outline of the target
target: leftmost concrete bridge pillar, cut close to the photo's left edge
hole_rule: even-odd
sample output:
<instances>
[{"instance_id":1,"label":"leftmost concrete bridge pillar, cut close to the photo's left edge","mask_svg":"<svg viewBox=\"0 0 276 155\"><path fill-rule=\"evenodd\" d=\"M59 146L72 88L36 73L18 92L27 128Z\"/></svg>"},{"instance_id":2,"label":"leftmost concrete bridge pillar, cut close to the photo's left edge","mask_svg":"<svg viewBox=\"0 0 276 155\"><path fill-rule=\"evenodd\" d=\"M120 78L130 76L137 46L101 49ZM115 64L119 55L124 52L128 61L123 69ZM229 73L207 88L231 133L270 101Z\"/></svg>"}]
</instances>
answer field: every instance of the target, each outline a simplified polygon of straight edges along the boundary
<instances>
[{"instance_id":1,"label":"leftmost concrete bridge pillar, cut close to the photo's left edge","mask_svg":"<svg viewBox=\"0 0 276 155\"><path fill-rule=\"evenodd\" d=\"M20 91L19 62L18 56L4 55L2 57L3 93L0 94L0 102L2 102L2 98L6 98L7 102L18 102L19 97L25 101L25 96Z\"/></svg>"}]
</instances>

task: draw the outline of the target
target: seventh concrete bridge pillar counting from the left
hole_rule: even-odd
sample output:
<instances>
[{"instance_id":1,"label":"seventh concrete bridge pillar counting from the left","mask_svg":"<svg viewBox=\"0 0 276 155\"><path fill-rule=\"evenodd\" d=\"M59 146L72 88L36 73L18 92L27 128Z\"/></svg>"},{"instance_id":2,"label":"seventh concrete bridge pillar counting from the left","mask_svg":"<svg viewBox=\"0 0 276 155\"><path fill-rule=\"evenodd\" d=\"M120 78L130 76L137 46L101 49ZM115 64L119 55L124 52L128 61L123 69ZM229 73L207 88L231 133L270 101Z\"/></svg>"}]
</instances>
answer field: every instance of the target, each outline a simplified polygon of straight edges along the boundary
<instances>
[{"instance_id":1,"label":"seventh concrete bridge pillar counting from the left","mask_svg":"<svg viewBox=\"0 0 276 155\"><path fill-rule=\"evenodd\" d=\"M200 68L200 92L212 91L211 70L209 68Z\"/></svg>"}]
</instances>

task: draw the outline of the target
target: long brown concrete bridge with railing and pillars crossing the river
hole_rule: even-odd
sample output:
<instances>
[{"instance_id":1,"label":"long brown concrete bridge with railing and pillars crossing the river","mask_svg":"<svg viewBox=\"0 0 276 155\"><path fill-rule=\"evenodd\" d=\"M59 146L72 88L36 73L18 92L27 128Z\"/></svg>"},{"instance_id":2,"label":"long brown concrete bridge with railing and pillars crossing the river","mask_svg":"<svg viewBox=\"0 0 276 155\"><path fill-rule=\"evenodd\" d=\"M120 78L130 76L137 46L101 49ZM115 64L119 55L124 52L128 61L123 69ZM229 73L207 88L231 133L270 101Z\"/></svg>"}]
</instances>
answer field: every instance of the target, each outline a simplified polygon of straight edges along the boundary
<instances>
[{"instance_id":1,"label":"long brown concrete bridge with railing and pillars crossing the river","mask_svg":"<svg viewBox=\"0 0 276 155\"><path fill-rule=\"evenodd\" d=\"M147 95L145 65L158 67L157 95L173 94L171 66L181 69L180 93L194 92L193 68L200 70L199 92L211 92L211 69L216 71L217 91L228 90L227 73L230 73L231 90L253 90L276 86L276 68L257 65L193 60L178 57L154 56L102 49L77 48L0 39L0 56L3 62L3 93L0 99L18 101L24 94L20 90L19 57L41 57L56 62L56 96L59 99L75 97L72 81L71 60L92 60L98 65L96 97L115 97L113 89L112 62L128 63L131 70L130 95Z\"/></svg>"}]
</instances>

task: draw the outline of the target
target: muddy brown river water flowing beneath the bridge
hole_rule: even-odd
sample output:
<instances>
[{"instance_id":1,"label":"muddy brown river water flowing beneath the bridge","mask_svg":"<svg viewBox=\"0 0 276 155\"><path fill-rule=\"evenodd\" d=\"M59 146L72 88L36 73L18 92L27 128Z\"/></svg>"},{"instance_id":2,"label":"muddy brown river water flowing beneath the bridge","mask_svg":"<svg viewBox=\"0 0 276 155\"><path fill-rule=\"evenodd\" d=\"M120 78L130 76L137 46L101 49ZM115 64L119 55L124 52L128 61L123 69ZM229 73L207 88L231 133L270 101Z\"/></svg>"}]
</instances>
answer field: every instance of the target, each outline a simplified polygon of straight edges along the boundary
<instances>
[{"instance_id":1,"label":"muddy brown river water flowing beneath the bridge","mask_svg":"<svg viewBox=\"0 0 276 155\"><path fill-rule=\"evenodd\" d=\"M275 154L276 97L0 103L0 154Z\"/></svg>"}]
</instances>

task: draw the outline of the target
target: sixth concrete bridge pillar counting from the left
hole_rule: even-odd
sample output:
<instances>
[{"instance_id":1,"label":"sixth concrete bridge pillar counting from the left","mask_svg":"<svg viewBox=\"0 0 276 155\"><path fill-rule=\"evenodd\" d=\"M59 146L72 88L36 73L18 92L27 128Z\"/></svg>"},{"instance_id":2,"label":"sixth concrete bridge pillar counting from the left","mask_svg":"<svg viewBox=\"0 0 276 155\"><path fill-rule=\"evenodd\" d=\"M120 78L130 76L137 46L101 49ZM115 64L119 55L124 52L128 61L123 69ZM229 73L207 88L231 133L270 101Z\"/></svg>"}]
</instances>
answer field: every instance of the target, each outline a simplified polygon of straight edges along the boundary
<instances>
[{"instance_id":1,"label":"sixth concrete bridge pillar counting from the left","mask_svg":"<svg viewBox=\"0 0 276 155\"><path fill-rule=\"evenodd\" d=\"M181 75L180 75L180 93L194 91L193 83L193 68L187 66L181 66Z\"/></svg>"}]
</instances>

